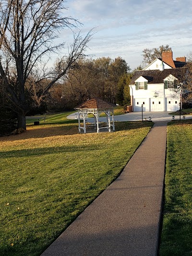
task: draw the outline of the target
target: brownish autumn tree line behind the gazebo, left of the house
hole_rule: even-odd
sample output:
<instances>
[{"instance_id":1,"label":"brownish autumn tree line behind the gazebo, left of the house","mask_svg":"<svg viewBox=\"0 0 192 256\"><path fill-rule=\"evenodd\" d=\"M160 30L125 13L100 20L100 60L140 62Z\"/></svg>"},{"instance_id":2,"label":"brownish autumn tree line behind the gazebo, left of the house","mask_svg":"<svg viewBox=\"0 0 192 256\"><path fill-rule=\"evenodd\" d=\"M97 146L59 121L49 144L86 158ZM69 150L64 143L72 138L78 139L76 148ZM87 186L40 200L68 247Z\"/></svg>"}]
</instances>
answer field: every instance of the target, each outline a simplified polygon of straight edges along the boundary
<instances>
[{"instance_id":1,"label":"brownish autumn tree line behind the gazebo, left of the house","mask_svg":"<svg viewBox=\"0 0 192 256\"><path fill-rule=\"evenodd\" d=\"M95 60L82 58L67 77L49 91L49 110L70 110L90 98L101 98L119 105L130 104L129 83L132 73L121 57Z\"/></svg>"}]
</instances>

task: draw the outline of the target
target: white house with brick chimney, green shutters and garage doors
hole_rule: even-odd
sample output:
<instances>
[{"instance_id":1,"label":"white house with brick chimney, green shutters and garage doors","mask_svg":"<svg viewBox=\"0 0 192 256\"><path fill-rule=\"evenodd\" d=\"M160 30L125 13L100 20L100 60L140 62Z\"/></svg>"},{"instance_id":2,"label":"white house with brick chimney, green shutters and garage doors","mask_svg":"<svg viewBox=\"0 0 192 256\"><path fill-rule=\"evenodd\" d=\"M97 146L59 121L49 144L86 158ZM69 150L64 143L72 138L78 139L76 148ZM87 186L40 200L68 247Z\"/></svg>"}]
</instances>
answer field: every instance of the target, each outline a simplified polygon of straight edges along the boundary
<instances>
[{"instance_id":1,"label":"white house with brick chimney, green shutters and garage doors","mask_svg":"<svg viewBox=\"0 0 192 256\"><path fill-rule=\"evenodd\" d=\"M162 53L162 60L156 59L144 70L135 71L130 87L132 111L175 111L182 102L180 74L186 58L172 59L172 51Z\"/></svg>"}]
</instances>

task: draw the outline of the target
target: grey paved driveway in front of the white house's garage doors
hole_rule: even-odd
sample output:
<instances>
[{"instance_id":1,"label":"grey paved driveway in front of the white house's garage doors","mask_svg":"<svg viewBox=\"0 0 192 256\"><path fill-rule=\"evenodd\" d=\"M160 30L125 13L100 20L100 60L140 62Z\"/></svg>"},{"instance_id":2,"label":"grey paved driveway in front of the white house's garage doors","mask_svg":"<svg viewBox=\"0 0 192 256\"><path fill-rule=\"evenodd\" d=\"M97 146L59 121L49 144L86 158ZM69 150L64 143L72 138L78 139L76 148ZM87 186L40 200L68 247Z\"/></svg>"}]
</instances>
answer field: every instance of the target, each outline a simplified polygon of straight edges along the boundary
<instances>
[{"instance_id":1,"label":"grey paved driveway in front of the white house's garage doors","mask_svg":"<svg viewBox=\"0 0 192 256\"><path fill-rule=\"evenodd\" d=\"M160 112L143 112L143 120L149 120L149 117L151 117L151 120L153 122L156 121L171 121L172 119L172 115L169 115L170 111L160 111ZM182 119L183 115L181 115L181 119ZM67 117L68 119L75 119L75 113L69 115ZM185 116L186 119L190 119L192 118L192 115L186 115ZM81 118L83 119L83 118ZM112 119L112 118L111 118ZM180 116L175 116L175 120L179 120ZM118 115L118 116L114 116L114 121L141 121L142 120L142 112L131 112L131 113L127 113L124 115ZM87 122L94 122L94 118L87 118L86 119ZM100 117L99 118L100 122L105 122L106 121L106 117Z\"/></svg>"}]
</instances>

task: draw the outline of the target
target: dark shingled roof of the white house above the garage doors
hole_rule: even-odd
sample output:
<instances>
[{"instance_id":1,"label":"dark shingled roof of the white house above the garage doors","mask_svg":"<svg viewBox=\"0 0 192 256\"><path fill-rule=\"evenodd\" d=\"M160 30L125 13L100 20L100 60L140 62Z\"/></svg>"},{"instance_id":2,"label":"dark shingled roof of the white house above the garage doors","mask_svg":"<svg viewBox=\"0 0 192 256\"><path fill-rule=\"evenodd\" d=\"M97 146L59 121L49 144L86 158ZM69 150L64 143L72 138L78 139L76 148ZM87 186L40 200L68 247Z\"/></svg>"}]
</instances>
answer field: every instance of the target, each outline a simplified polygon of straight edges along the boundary
<instances>
[{"instance_id":1,"label":"dark shingled roof of the white house above the garage doors","mask_svg":"<svg viewBox=\"0 0 192 256\"><path fill-rule=\"evenodd\" d=\"M169 75L172 74L176 78L180 79L183 73L187 71L187 68L176 68L176 69L164 69L160 70L139 70L135 71L132 76L131 85L134 85L135 80L140 76L143 76L148 80L148 84L163 84L163 80Z\"/></svg>"}]
</instances>

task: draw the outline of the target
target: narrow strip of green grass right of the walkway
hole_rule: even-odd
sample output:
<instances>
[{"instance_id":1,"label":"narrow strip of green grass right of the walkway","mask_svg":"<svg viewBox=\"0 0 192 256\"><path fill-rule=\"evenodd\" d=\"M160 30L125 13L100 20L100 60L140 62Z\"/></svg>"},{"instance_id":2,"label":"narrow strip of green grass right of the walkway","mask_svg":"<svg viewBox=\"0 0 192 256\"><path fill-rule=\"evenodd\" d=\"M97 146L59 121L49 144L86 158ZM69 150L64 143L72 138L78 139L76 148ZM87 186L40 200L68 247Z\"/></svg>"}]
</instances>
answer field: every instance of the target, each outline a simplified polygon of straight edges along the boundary
<instances>
[{"instance_id":1,"label":"narrow strip of green grass right of the walkway","mask_svg":"<svg viewBox=\"0 0 192 256\"><path fill-rule=\"evenodd\" d=\"M192 120L168 126L160 256L192 256Z\"/></svg>"}]
</instances>

